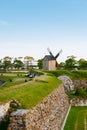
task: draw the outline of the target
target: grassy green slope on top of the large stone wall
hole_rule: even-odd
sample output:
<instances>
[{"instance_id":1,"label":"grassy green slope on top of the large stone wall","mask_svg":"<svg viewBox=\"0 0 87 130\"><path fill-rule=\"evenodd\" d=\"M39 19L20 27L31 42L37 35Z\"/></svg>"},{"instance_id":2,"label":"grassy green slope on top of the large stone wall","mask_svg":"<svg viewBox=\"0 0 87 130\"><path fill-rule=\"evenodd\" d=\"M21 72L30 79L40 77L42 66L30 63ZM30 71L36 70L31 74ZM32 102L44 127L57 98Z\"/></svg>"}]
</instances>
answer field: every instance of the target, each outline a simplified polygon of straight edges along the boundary
<instances>
[{"instance_id":1,"label":"grassy green slope on top of the large stone wall","mask_svg":"<svg viewBox=\"0 0 87 130\"><path fill-rule=\"evenodd\" d=\"M6 80L0 87L0 103L16 99L22 104L22 108L35 106L61 84L53 75L41 75L29 80L24 75L17 77L17 74L6 73L0 76L0 79ZM12 79L12 82L9 79Z\"/></svg>"}]
</instances>

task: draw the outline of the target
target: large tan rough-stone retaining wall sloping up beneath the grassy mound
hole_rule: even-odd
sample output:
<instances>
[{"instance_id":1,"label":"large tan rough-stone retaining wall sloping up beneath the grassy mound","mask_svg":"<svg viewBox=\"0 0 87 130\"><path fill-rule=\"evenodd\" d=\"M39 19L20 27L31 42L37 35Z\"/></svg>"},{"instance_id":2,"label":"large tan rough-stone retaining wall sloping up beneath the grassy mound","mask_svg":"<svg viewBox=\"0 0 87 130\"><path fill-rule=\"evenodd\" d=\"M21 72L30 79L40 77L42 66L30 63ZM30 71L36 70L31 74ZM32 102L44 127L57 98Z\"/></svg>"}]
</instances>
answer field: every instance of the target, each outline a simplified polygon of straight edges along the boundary
<instances>
[{"instance_id":1,"label":"large tan rough-stone retaining wall sloping up beneath the grassy mound","mask_svg":"<svg viewBox=\"0 0 87 130\"><path fill-rule=\"evenodd\" d=\"M68 108L68 97L60 85L34 108L13 112L8 130L60 130Z\"/></svg>"}]
</instances>

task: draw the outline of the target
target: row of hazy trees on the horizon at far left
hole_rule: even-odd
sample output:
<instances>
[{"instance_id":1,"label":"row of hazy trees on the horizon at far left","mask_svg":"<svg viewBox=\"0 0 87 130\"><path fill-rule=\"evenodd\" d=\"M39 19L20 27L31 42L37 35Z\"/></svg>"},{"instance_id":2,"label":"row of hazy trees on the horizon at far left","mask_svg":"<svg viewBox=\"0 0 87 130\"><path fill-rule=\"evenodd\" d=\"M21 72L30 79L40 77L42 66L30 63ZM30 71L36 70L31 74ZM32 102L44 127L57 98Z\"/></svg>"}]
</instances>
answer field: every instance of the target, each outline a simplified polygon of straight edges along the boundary
<instances>
[{"instance_id":1,"label":"row of hazy trees on the horizon at far left","mask_svg":"<svg viewBox=\"0 0 87 130\"><path fill-rule=\"evenodd\" d=\"M26 56L24 57L24 61L22 61L23 57L18 58L12 58L9 56L4 57L3 59L0 59L0 70L14 70L14 69L29 69L29 67L32 66L32 61L34 60L33 57Z\"/></svg>"}]
</instances>

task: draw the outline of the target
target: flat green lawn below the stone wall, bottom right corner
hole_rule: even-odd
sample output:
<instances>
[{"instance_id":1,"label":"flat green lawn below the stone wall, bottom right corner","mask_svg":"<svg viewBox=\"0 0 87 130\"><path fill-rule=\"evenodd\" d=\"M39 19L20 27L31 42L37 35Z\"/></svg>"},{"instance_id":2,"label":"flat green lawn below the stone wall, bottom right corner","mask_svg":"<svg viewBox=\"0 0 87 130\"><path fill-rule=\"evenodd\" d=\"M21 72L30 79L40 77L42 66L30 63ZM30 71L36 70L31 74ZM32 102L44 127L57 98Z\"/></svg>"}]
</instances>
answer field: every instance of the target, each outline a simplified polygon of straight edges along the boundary
<instances>
[{"instance_id":1,"label":"flat green lawn below the stone wall, bottom right corner","mask_svg":"<svg viewBox=\"0 0 87 130\"><path fill-rule=\"evenodd\" d=\"M87 107L71 107L64 130L87 130Z\"/></svg>"}]
</instances>

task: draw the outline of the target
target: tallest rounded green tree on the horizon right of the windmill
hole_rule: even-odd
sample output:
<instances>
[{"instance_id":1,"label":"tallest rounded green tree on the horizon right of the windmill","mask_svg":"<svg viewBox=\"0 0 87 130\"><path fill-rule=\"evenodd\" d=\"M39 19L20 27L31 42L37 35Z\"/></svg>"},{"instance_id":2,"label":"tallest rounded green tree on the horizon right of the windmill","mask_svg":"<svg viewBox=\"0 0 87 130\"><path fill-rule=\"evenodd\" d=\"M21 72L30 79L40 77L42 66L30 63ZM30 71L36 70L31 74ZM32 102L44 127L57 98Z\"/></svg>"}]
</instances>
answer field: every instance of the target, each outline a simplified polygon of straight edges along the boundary
<instances>
[{"instance_id":1,"label":"tallest rounded green tree on the horizon right of the windmill","mask_svg":"<svg viewBox=\"0 0 87 130\"><path fill-rule=\"evenodd\" d=\"M75 58L76 57L73 55L67 57L67 60L65 61L65 69L72 70L77 67L77 61L75 60Z\"/></svg>"}]
</instances>

